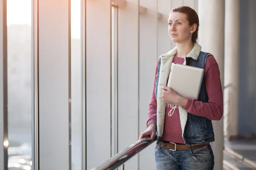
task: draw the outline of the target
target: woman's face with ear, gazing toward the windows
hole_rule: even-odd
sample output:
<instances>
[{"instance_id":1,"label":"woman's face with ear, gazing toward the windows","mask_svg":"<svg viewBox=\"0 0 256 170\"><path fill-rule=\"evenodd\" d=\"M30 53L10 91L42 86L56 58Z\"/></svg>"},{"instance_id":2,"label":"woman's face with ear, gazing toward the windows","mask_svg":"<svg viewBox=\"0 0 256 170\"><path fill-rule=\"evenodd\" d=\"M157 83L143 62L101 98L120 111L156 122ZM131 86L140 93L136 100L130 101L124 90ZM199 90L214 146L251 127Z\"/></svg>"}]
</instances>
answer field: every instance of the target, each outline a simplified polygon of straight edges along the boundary
<instances>
[{"instance_id":1,"label":"woman's face with ear, gazing toward the windows","mask_svg":"<svg viewBox=\"0 0 256 170\"><path fill-rule=\"evenodd\" d=\"M189 21L186 19L186 14L173 12L168 20L168 33L172 42L183 43L192 41L192 34L196 30L196 24L189 26Z\"/></svg>"}]
</instances>

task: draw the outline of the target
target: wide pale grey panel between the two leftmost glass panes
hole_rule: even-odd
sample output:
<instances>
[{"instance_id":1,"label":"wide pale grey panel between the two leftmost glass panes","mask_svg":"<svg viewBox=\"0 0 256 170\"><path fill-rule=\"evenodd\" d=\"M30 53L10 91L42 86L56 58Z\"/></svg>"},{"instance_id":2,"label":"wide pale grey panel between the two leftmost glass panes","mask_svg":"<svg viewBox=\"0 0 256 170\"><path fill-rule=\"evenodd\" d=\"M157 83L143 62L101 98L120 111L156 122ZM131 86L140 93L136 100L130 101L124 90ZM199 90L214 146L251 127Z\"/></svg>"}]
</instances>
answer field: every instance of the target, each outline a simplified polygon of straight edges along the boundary
<instances>
[{"instance_id":1,"label":"wide pale grey panel between the two leftmost glass panes","mask_svg":"<svg viewBox=\"0 0 256 170\"><path fill-rule=\"evenodd\" d=\"M39 0L41 170L70 170L70 0Z\"/></svg>"}]
</instances>

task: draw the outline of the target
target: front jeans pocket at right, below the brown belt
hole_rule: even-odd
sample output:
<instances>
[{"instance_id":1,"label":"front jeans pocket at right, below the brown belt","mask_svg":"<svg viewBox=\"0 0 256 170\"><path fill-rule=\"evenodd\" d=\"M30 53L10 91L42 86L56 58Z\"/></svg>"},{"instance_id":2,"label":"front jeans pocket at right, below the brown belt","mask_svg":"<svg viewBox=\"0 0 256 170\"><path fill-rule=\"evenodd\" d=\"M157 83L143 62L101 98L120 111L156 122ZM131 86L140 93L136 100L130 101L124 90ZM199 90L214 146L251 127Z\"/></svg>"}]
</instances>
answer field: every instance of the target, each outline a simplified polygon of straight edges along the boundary
<instances>
[{"instance_id":1,"label":"front jeans pocket at right, below the brown belt","mask_svg":"<svg viewBox=\"0 0 256 170\"><path fill-rule=\"evenodd\" d=\"M206 162L206 161L210 161L212 159L212 148L207 145L205 147L201 147L200 149L197 150L193 150L191 157L194 161L197 162Z\"/></svg>"}]
</instances>

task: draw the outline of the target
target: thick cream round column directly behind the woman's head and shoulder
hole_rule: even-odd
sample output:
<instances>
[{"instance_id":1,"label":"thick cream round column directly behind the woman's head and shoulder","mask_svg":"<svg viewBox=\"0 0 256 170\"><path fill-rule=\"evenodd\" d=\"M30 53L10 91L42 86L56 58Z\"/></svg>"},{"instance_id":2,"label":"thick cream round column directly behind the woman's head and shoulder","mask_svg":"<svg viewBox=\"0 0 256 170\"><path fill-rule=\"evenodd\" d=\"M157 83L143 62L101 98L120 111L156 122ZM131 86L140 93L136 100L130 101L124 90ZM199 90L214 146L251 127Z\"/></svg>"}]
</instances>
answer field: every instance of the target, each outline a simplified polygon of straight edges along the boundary
<instances>
[{"instance_id":1,"label":"thick cream round column directly behind the woman's head and shoulder","mask_svg":"<svg viewBox=\"0 0 256 170\"><path fill-rule=\"evenodd\" d=\"M223 0L198 0L199 44L202 51L212 53L218 62L221 72L221 82L224 80L224 11ZM215 142L212 143L215 154L215 170L221 170L223 161L223 118L213 121Z\"/></svg>"}]
</instances>

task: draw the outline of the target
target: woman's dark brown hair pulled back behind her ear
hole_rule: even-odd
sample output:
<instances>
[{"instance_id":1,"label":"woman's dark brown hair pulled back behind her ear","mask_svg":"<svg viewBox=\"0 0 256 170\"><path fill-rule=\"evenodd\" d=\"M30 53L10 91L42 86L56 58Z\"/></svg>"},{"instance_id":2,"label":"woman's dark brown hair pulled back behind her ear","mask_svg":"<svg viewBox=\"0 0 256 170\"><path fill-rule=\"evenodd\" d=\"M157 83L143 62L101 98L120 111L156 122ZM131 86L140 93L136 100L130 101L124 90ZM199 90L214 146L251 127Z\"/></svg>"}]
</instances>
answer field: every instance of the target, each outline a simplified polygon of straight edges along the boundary
<instances>
[{"instance_id":1,"label":"woman's dark brown hair pulled back behind her ear","mask_svg":"<svg viewBox=\"0 0 256 170\"><path fill-rule=\"evenodd\" d=\"M192 26L193 24L197 25L195 32L192 34L192 42L196 43L196 40L198 40L198 27L199 27L199 18L196 11L188 6L180 6L177 8L173 8L170 14L172 14L173 12L180 12L180 13L186 14L186 19L189 21L189 26Z\"/></svg>"}]
</instances>

